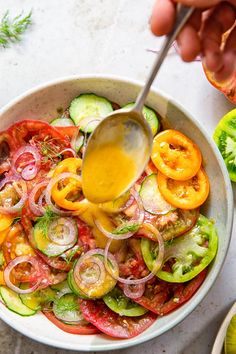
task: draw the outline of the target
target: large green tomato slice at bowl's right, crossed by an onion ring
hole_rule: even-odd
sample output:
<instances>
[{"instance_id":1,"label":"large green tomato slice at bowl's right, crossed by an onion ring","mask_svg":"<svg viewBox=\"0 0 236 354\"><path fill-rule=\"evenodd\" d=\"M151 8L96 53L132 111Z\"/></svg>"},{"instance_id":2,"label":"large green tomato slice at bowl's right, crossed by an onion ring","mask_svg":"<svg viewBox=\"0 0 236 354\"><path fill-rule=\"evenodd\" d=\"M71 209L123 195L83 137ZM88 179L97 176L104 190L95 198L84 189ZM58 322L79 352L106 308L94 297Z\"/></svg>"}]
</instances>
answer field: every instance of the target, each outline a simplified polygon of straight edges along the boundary
<instances>
[{"instance_id":1,"label":"large green tomato slice at bowl's right, crossed by an onion ring","mask_svg":"<svg viewBox=\"0 0 236 354\"><path fill-rule=\"evenodd\" d=\"M200 215L193 229L183 236L165 242L164 262L162 269L156 274L157 277L171 283L183 283L193 279L214 259L217 245L218 237L213 222ZM152 270L158 254L157 243L143 238L141 250L147 267Z\"/></svg>"}]
</instances>

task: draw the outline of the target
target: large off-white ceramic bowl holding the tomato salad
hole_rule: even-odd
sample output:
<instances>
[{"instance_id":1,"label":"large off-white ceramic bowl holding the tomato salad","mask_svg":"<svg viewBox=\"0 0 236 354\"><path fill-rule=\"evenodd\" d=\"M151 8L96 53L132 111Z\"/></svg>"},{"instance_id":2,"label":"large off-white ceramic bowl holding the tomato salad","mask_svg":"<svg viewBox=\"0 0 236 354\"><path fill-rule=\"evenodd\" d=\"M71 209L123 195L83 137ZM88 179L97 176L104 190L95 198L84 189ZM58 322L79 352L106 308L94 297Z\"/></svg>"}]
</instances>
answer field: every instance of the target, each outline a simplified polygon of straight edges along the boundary
<instances>
[{"instance_id":1,"label":"large off-white ceramic bowl holding the tomato salad","mask_svg":"<svg viewBox=\"0 0 236 354\"><path fill-rule=\"evenodd\" d=\"M80 76L63 78L46 83L16 98L0 111L0 129L22 119L49 121L58 116L70 101L82 92L94 92L123 105L134 101L140 83L129 79L108 76ZM147 104L154 108L171 126L180 130L200 147L206 171L211 182L211 193L204 205L203 213L216 221L219 234L218 253L204 283L188 301L176 311L157 319L144 333L132 339L116 340L106 335L72 335L65 333L37 314L21 317L0 304L0 317L17 331L39 342L72 350L100 351L121 349L143 343L168 331L188 316L207 294L216 280L230 243L233 220L233 196L227 170L218 149L199 123L165 94L152 90Z\"/></svg>"}]
</instances>

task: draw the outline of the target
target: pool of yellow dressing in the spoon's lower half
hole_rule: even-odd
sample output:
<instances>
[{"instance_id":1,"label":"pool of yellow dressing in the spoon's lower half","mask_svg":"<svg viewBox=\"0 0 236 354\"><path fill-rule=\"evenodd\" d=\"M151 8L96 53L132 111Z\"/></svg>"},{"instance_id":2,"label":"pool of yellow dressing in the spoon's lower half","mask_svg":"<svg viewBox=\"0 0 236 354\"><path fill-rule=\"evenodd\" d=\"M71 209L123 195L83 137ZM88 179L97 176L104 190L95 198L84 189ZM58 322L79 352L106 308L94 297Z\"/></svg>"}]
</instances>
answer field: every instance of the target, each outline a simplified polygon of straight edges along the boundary
<instances>
[{"instance_id":1,"label":"pool of yellow dressing in the spoon's lower half","mask_svg":"<svg viewBox=\"0 0 236 354\"><path fill-rule=\"evenodd\" d=\"M93 203L120 196L136 176L136 164L121 146L112 143L91 151L82 170L82 189Z\"/></svg>"}]
</instances>

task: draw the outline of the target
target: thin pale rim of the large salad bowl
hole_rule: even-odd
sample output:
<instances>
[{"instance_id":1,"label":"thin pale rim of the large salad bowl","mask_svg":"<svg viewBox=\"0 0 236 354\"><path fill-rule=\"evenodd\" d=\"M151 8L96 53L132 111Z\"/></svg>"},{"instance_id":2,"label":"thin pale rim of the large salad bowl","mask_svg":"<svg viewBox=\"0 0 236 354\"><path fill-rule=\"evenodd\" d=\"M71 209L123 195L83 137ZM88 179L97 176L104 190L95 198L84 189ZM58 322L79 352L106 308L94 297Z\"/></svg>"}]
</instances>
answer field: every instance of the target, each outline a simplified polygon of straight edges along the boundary
<instances>
[{"instance_id":1,"label":"thin pale rim of the large salad bowl","mask_svg":"<svg viewBox=\"0 0 236 354\"><path fill-rule=\"evenodd\" d=\"M95 73L95 74L63 76L63 77L59 77L59 78L56 78L56 79L53 79L50 81L46 81L46 82L41 83L37 86L34 86L33 88L28 89L25 92L23 92L22 94L18 95L16 98L13 98L12 100L10 100L6 105L4 105L0 109L0 117L1 117L1 115L5 114L9 109L11 109L13 106L20 103L23 99L25 99L28 96L31 96L39 91L42 91L46 88L50 88L52 86L63 84L63 83L69 82L69 81L79 81L79 80L84 80L84 79L110 80L110 81L115 81L117 83L118 82L127 83L128 85L134 85L138 88L141 88L143 86L143 82L140 80L135 80L135 79L132 79L129 77L123 77L120 75L106 75L106 74ZM139 335L137 337L129 339L128 341L127 340L119 340L119 341L115 341L113 343L106 343L105 348L104 348L104 345L102 345L102 344L93 344L92 346L89 344L89 346L87 346L87 347L81 345L80 343L78 343L78 346L77 345L75 346L74 344L70 345L69 343L67 343L67 344L65 343L65 345L62 345L60 343L60 345L58 345L56 340L45 339L38 334L28 333L27 330L25 330L20 324L17 324L17 322L12 322L12 320L9 319L7 315L5 315L4 313L1 313L1 319L5 323L7 323L12 328L14 328L16 331L24 334L25 336L27 336L37 342L40 342L40 343L43 343L46 345L50 345L53 347L57 347L57 348L67 349L67 350L83 350L83 351L108 351L108 350L115 350L115 349L124 349L124 348L128 348L128 347L131 347L134 345L145 343L145 342L167 332L171 328L175 327L177 324L181 323L187 316L189 316L190 313L197 307L197 305L199 305L199 303L205 298L205 296L207 295L207 293L209 292L209 290L211 289L211 287L215 283L220 271L222 270L222 267L225 262L225 259L226 259L227 253L228 253L228 249L230 246L230 241L231 241L231 236L232 236L232 227L233 227L233 215L234 215L233 190L232 190L231 181L230 181L224 160L223 160L217 146L215 145L213 139L211 139L209 137L208 133L206 132L206 130L202 126L202 124L200 122L198 122L197 119L194 118L193 115L191 113L189 113L189 111L186 110L182 106L181 103L179 103L178 101L173 99L170 95L164 93L163 91L161 91L159 89L152 87L150 89L150 92L157 94L168 101L171 101L180 111L182 111L190 119L190 121L192 121L195 124L195 126L201 131L201 133L204 135L204 137L208 140L208 143L209 143L211 149L213 150L214 154L216 155L217 161L219 163L219 166L220 166L220 169L221 169L221 172L223 175L224 183L226 186L226 196L227 196L226 204L227 204L228 215L227 215L227 220L226 220L226 234L229 235L229 237L227 239L227 246L225 247L224 257L222 257L222 259L220 259L217 262L217 267L216 267L214 273L208 279L208 282L205 283L204 288L201 289L201 293L198 293L198 296L196 298L194 298L194 301L191 302L191 306L185 308L184 311L182 311L181 314L179 314L179 316L177 318L173 319L170 323L163 326L161 329L158 329L158 334L156 333L157 330L155 330L149 334L146 334L144 337L142 335ZM0 312L1 312L1 310L0 310Z\"/></svg>"}]
</instances>

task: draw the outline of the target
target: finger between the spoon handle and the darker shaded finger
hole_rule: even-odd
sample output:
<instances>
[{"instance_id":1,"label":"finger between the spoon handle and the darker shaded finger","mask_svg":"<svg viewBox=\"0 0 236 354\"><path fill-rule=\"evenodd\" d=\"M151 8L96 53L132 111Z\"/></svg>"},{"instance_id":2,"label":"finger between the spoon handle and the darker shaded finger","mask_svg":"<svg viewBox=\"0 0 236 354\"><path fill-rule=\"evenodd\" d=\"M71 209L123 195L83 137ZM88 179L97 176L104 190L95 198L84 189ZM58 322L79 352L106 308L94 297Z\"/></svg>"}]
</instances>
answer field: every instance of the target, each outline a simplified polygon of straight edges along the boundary
<instances>
[{"instance_id":1,"label":"finger between the spoon handle and the darker shaded finger","mask_svg":"<svg viewBox=\"0 0 236 354\"><path fill-rule=\"evenodd\" d=\"M177 43L181 57L190 62L201 52L201 41L198 31L201 26L201 11L196 11L180 32Z\"/></svg>"}]
</instances>

